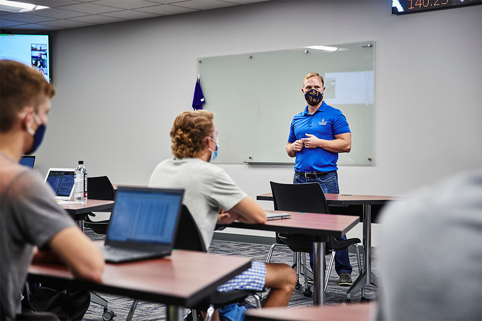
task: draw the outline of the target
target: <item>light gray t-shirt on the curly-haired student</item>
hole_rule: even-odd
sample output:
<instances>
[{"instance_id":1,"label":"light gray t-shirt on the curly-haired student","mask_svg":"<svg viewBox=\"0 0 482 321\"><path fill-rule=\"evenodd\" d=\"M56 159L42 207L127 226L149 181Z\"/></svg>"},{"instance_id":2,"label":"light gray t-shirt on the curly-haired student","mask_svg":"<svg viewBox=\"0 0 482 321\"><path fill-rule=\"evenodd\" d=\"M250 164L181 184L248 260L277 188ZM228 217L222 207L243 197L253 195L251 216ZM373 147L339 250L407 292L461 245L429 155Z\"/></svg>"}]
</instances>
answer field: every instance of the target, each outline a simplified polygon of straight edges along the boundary
<instances>
[{"instance_id":1,"label":"light gray t-shirt on the curly-haired student","mask_svg":"<svg viewBox=\"0 0 482 321\"><path fill-rule=\"evenodd\" d=\"M219 208L232 209L247 194L227 173L199 158L166 159L151 175L149 187L184 189L182 203L191 212L209 248Z\"/></svg>"}]
</instances>

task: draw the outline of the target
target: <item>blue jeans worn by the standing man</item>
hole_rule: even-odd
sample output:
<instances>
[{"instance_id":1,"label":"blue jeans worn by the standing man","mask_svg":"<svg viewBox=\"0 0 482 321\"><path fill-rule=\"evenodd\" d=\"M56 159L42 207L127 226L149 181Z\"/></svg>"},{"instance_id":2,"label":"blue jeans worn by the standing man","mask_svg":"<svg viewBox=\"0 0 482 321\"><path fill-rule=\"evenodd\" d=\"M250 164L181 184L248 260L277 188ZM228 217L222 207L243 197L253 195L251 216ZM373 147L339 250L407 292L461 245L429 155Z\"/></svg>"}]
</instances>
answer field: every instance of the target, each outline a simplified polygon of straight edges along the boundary
<instances>
[{"instance_id":1,"label":"blue jeans worn by the standing man","mask_svg":"<svg viewBox=\"0 0 482 321\"><path fill-rule=\"evenodd\" d=\"M321 177L316 177L312 179L307 179L299 174L294 175L293 177L293 184L301 184L301 183L318 183L323 190L323 193L328 194L340 194L340 190L338 188L338 173L336 171L329 172L326 175ZM346 235L342 237L336 237L336 240L346 240ZM313 270L313 253L310 253L310 267ZM348 257L348 249L336 251L335 253L335 271L338 275L341 273L348 273L351 274L353 268L350 264L350 259Z\"/></svg>"}]
</instances>

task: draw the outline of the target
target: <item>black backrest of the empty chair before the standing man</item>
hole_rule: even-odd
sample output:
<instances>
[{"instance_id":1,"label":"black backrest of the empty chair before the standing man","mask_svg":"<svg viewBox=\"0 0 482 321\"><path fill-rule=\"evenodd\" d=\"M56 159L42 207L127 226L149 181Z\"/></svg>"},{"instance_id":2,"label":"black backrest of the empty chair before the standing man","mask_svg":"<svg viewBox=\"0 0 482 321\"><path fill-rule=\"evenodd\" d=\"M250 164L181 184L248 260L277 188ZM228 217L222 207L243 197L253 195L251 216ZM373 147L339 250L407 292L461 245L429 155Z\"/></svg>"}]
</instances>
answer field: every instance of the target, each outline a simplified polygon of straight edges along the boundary
<instances>
[{"instance_id":1,"label":"black backrest of the empty chair before the standing man","mask_svg":"<svg viewBox=\"0 0 482 321\"><path fill-rule=\"evenodd\" d=\"M329 214L325 194L318 183L282 184L270 182L277 211Z\"/></svg>"}]
</instances>

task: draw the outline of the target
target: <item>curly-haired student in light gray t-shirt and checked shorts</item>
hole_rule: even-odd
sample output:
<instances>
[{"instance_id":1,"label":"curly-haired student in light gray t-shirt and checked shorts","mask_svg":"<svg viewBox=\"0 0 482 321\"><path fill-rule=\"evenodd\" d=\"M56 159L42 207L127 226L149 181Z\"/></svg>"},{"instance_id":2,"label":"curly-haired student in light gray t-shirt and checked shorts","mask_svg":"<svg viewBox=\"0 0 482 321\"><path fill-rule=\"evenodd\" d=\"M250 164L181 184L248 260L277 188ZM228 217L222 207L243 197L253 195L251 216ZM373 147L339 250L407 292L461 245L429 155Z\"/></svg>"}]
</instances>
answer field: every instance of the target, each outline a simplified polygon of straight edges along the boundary
<instances>
[{"instance_id":1,"label":"curly-haired student in light gray t-shirt and checked shorts","mask_svg":"<svg viewBox=\"0 0 482 321\"><path fill-rule=\"evenodd\" d=\"M216 223L265 223L266 213L221 168L210 164L217 155L213 113L186 111L171 129L174 159L159 163L149 187L184 189L183 203L191 212L204 239L211 243ZM219 209L224 209L220 213ZM287 306L296 285L296 273L286 264L253 262L252 267L218 287L220 291L271 288L264 306Z\"/></svg>"}]
</instances>

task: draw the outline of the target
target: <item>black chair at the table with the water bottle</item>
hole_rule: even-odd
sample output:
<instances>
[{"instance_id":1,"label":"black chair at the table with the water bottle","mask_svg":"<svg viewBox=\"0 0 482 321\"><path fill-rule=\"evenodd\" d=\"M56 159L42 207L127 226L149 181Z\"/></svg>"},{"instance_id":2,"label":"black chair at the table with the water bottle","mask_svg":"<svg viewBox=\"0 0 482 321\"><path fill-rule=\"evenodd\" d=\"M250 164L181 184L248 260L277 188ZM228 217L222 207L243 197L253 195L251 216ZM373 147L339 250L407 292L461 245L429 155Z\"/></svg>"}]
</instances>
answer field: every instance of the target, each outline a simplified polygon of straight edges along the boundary
<instances>
[{"instance_id":1,"label":"black chair at the table with the water bottle","mask_svg":"<svg viewBox=\"0 0 482 321\"><path fill-rule=\"evenodd\" d=\"M115 191L107 176L87 177L88 198L92 200L113 201L115 199ZM90 212L87 214L84 224L97 234L106 234L110 219L102 221L92 221L90 217L95 214Z\"/></svg>"}]
</instances>

